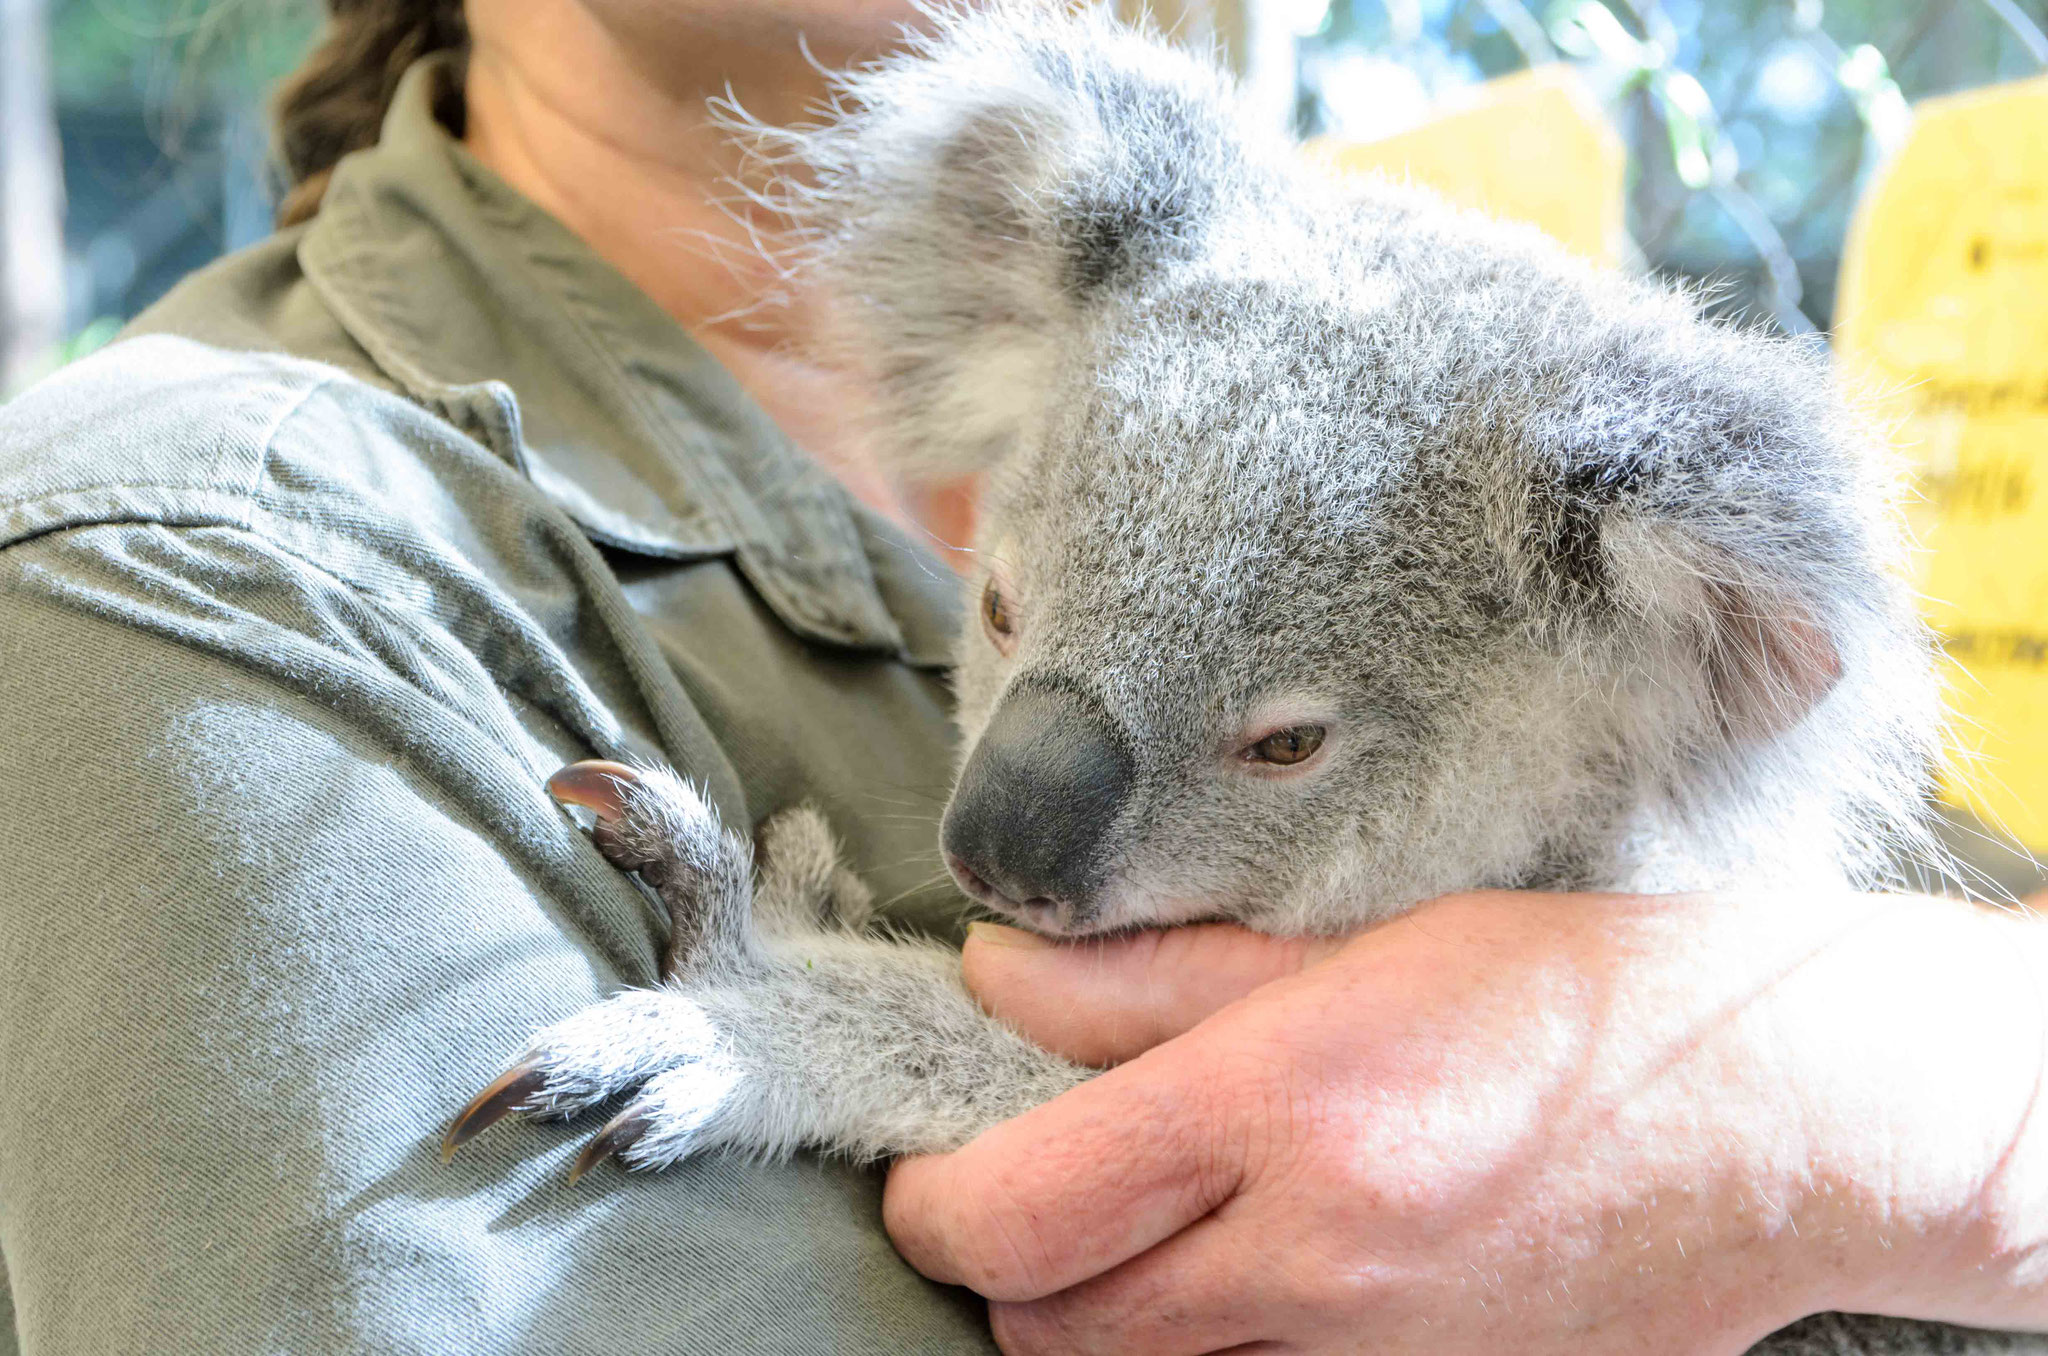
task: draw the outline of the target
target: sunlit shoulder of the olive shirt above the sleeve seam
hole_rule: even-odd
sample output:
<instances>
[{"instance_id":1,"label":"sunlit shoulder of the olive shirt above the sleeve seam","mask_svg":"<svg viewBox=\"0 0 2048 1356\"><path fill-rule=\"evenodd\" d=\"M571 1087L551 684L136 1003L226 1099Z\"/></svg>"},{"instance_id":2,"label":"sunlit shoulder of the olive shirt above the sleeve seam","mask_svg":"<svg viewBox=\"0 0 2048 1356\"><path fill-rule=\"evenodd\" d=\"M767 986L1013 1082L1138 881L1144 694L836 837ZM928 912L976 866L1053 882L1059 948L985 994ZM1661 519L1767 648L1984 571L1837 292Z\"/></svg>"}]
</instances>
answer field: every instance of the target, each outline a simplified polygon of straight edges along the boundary
<instances>
[{"instance_id":1,"label":"sunlit shoulder of the olive shirt above the sleeve seam","mask_svg":"<svg viewBox=\"0 0 2048 1356\"><path fill-rule=\"evenodd\" d=\"M119 340L0 406L0 549L104 520L246 526L287 430L301 447L403 444L418 420L324 363Z\"/></svg>"}]
</instances>

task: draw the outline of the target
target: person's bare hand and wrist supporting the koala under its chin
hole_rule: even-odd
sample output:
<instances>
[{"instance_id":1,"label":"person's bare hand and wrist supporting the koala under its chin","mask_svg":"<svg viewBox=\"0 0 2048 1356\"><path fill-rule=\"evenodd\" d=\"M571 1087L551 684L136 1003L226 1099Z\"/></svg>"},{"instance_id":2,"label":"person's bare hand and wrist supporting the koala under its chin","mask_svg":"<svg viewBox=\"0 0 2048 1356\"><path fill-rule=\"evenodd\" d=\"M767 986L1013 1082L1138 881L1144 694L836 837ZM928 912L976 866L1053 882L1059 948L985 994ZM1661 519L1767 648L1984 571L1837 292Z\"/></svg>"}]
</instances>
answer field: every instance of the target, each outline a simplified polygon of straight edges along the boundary
<instances>
[{"instance_id":1,"label":"person's bare hand and wrist supporting the koala under its chin","mask_svg":"<svg viewBox=\"0 0 2048 1356\"><path fill-rule=\"evenodd\" d=\"M2048 1321L2036 924L1927 899L1477 893L967 977L1126 1063L895 1168L1006 1352L1741 1352L1827 1309ZM1186 1032L1186 1034L1180 1034Z\"/></svg>"}]
</instances>

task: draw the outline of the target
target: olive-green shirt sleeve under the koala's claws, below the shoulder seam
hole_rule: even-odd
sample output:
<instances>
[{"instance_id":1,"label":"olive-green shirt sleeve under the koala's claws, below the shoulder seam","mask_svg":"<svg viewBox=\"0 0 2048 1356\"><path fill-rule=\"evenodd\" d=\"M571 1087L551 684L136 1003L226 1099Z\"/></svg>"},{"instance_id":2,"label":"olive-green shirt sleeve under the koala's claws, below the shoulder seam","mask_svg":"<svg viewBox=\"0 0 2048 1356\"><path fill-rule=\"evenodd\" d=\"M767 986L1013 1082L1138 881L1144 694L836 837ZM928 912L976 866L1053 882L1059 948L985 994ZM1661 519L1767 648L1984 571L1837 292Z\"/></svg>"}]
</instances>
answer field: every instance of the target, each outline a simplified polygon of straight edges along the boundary
<instances>
[{"instance_id":1,"label":"olive-green shirt sleeve under the koala's claws, below the shoulder seam","mask_svg":"<svg viewBox=\"0 0 2048 1356\"><path fill-rule=\"evenodd\" d=\"M504 719L489 719L500 711ZM20 1350L987 1350L872 1174L569 1188L449 1116L659 924L469 649L236 526L0 551L0 1245Z\"/></svg>"}]
</instances>

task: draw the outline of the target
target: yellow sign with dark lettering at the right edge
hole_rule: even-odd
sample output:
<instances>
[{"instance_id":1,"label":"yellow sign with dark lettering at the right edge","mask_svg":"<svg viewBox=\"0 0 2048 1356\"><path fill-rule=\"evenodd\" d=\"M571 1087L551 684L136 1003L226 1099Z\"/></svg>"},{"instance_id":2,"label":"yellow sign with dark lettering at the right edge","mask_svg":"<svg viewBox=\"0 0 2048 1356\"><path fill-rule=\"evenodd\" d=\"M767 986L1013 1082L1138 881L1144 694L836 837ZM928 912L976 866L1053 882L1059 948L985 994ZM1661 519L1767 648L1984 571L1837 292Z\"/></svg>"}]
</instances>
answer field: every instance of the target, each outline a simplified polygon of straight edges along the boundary
<instances>
[{"instance_id":1,"label":"yellow sign with dark lettering at the right edge","mask_svg":"<svg viewBox=\"0 0 2048 1356\"><path fill-rule=\"evenodd\" d=\"M2048 850L2048 78L1915 111L1849 231L1837 352L1919 477L1950 797Z\"/></svg>"}]
</instances>

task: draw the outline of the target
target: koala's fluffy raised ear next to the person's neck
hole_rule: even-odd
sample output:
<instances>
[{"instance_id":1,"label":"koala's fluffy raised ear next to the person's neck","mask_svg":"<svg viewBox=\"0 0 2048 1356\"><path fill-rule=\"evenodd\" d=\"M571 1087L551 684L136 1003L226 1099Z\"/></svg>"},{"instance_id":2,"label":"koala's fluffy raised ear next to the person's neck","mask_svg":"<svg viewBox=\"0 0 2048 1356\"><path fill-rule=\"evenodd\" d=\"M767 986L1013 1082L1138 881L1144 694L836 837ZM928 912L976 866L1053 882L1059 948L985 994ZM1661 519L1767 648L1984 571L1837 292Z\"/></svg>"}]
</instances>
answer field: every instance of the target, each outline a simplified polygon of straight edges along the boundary
<instances>
[{"instance_id":1,"label":"koala's fluffy raised ear next to the person's neck","mask_svg":"<svg viewBox=\"0 0 2048 1356\"><path fill-rule=\"evenodd\" d=\"M1104 297L1202 248L1247 156L1221 72L1098 14L934 8L774 131L827 358L870 379L895 469L958 475L1044 420Z\"/></svg>"}]
</instances>

